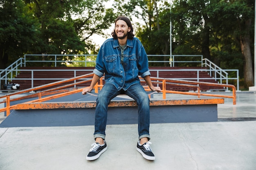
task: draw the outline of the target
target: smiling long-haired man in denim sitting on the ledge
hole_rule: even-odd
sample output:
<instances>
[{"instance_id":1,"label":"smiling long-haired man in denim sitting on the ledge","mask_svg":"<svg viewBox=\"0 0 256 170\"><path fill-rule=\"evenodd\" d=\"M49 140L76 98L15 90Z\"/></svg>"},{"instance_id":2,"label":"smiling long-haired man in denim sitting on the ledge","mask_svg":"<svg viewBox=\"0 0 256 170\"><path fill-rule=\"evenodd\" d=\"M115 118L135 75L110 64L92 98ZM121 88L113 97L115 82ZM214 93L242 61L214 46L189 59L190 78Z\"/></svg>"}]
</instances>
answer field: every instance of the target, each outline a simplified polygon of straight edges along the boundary
<instances>
[{"instance_id":1,"label":"smiling long-haired man in denim sitting on the ledge","mask_svg":"<svg viewBox=\"0 0 256 170\"><path fill-rule=\"evenodd\" d=\"M82 94L92 91L94 85L105 73L105 85L97 97L95 109L95 143L87 160L94 160L106 151L105 130L107 111L110 100L120 94L126 94L138 105L139 141L137 150L149 160L155 160L150 148L149 135L149 97L141 86L140 75L152 91L161 92L160 87L153 86L148 70L148 57L139 39L134 38L133 28L127 17L120 16L115 21L113 38L106 40L97 55L94 76L89 88L84 88Z\"/></svg>"}]
</instances>

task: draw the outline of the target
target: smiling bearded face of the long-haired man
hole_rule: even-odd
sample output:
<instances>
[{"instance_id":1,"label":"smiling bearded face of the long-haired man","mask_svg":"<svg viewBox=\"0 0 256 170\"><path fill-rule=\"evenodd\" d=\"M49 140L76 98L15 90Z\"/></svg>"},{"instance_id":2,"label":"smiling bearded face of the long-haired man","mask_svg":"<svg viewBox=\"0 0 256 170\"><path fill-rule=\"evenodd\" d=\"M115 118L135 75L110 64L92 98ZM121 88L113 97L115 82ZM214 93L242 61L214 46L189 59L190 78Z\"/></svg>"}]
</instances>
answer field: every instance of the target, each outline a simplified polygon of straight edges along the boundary
<instances>
[{"instance_id":1,"label":"smiling bearded face of the long-haired man","mask_svg":"<svg viewBox=\"0 0 256 170\"><path fill-rule=\"evenodd\" d=\"M116 22L115 32L116 32L117 38L121 40L126 38L130 30L131 30L130 27L128 27L128 25L124 20L118 20Z\"/></svg>"}]
</instances>

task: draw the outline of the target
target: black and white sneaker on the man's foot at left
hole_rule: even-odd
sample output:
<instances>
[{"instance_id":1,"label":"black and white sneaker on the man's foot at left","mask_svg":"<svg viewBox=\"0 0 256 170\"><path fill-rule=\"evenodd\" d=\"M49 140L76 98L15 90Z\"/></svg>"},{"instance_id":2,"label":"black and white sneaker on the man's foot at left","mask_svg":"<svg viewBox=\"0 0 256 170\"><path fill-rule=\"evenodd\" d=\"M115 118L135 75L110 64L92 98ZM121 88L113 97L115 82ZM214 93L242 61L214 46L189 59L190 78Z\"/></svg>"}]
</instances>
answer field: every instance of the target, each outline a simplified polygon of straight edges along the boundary
<instances>
[{"instance_id":1,"label":"black and white sneaker on the man's foot at left","mask_svg":"<svg viewBox=\"0 0 256 170\"><path fill-rule=\"evenodd\" d=\"M86 159L89 161L95 160L101 156L103 152L107 150L107 143L104 141L104 145L100 145L99 143L93 143L90 152L88 153Z\"/></svg>"}]
</instances>

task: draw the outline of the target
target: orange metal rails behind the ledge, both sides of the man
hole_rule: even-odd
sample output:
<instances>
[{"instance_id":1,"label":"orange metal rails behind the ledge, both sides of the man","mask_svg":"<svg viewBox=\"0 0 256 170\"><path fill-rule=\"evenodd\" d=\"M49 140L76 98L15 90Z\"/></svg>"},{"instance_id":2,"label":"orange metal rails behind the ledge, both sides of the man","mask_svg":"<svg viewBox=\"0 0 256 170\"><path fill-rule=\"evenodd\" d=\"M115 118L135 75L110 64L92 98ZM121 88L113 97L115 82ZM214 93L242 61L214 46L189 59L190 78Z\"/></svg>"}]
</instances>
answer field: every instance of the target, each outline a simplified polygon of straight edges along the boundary
<instances>
[{"instance_id":1,"label":"orange metal rails behind the ledge, both sides of the man","mask_svg":"<svg viewBox=\"0 0 256 170\"><path fill-rule=\"evenodd\" d=\"M21 99L25 99L25 98L31 98L31 97L38 96L38 99L29 101L29 102L26 102L26 103L44 102L44 101L47 101L47 100L50 100L50 99L55 99L55 98L58 98L58 97L63 97L63 96L71 95L71 94L74 94L74 93L81 93L82 90L83 90L82 88L79 88L79 89L76 89L76 88L63 89L63 88L68 88L68 87L74 86L76 84L81 84L81 83L84 83L84 82L90 82L90 81L92 81L92 76L93 76L93 73L85 74L85 75L73 77L73 78L70 78L70 79L65 79L65 80L45 84L45 85L42 85L42 86L37 86L37 87L34 87L34 88L28 88L28 89L25 89L25 90L22 90L22 91L16 91L16 92L10 93L8 95L0 96L0 99L1 98L6 98L6 100L1 102L1 103L6 103L6 107L1 108L0 112L6 111L6 115L8 116L10 114L10 110L12 110L16 107L16 105L10 106L11 101L17 101L17 100L21 100ZM68 84L68 85L64 85L64 86L58 86L56 88L51 88L51 89L46 90L46 91L37 92L37 93L31 94L31 95L26 95L26 96L23 96L23 97L10 99L11 96L14 96L14 95L27 93L27 92L31 92L31 91L38 91L38 90L43 89L43 88L52 87L52 86L56 86L56 85L66 83L66 82L72 82L72 81L79 80L79 79L84 79L84 78L87 78L87 80L82 80L82 81L75 82L75 83L72 83L72 84ZM163 88L162 88L161 92L163 94L163 99L166 99L166 93L176 93L176 94L184 94L184 95L197 95L198 98L200 98L200 96L233 98L233 104L234 105L236 104L236 87L234 85L208 83L208 82L195 82L195 81L176 80L176 79L164 79L164 78L157 78L157 77L151 77L151 80L154 84L162 84ZM98 93L98 88L101 89L102 86L103 86L103 78L101 78L99 82L100 82L100 84L96 84L95 87L94 87L96 93ZM181 92L181 91L168 91L168 90L166 90L166 84L170 84L170 83L175 84L175 85L179 85L179 86L191 86L191 87L197 88L198 91L197 91L197 93ZM220 86L220 87L232 88L233 95L229 96L229 95L216 95L216 94L201 93L199 85ZM145 88L145 90L149 91L150 89ZM52 96L43 97L45 95L52 95Z\"/></svg>"}]
</instances>

